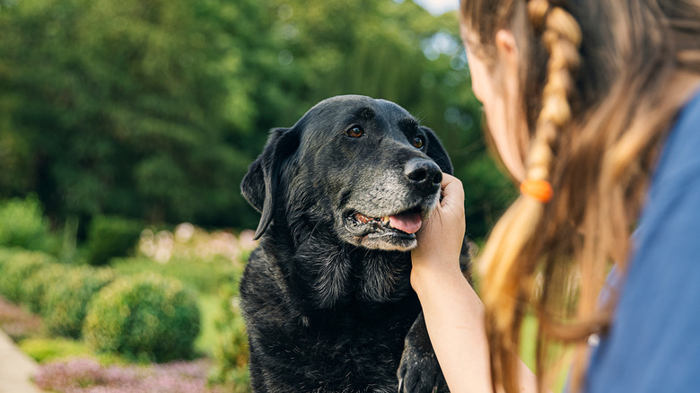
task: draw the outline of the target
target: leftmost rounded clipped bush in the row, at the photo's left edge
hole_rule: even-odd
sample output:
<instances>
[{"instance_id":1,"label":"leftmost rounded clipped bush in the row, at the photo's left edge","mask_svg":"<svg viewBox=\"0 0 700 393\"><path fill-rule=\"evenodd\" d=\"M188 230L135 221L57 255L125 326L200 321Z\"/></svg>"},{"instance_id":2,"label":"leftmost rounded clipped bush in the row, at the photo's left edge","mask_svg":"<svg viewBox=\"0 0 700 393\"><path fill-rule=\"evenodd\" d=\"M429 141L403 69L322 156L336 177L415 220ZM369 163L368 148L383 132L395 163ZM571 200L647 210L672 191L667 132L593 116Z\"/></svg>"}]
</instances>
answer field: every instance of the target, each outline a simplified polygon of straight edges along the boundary
<instances>
[{"instance_id":1,"label":"leftmost rounded clipped bush in the row, at the photo's left edge","mask_svg":"<svg viewBox=\"0 0 700 393\"><path fill-rule=\"evenodd\" d=\"M26 301L24 284L39 269L56 259L38 251L9 251L2 257L2 274L0 274L0 293L8 301L22 303Z\"/></svg>"}]
</instances>

